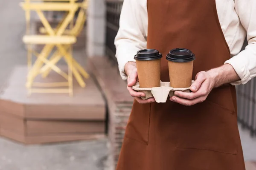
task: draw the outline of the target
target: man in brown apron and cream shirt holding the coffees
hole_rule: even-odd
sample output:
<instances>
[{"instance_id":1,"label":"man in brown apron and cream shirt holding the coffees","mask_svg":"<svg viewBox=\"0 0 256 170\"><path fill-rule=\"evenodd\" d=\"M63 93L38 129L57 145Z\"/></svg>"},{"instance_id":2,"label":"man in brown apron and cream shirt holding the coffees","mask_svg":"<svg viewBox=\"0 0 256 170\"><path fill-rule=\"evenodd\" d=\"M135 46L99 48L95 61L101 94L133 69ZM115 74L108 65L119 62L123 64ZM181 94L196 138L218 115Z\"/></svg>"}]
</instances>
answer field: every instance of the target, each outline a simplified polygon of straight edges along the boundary
<instances>
[{"instance_id":1,"label":"man in brown apron and cream shirt holding the coffees","mask_svg":"<svg viewBox=\"0 0 256 170\"><path fill-rule=\"evenodd\" d=\"M117 170L245 170L233 85L256 75L255 11L254 0L124 1L116 57L135 100ZM239 53L246 31L249 45ZM144 48L193 51L192 93L140 99L145 94L131 88L133 57ZM161 80L169 81L165 57Z\"/></svg>"}]
</instances>

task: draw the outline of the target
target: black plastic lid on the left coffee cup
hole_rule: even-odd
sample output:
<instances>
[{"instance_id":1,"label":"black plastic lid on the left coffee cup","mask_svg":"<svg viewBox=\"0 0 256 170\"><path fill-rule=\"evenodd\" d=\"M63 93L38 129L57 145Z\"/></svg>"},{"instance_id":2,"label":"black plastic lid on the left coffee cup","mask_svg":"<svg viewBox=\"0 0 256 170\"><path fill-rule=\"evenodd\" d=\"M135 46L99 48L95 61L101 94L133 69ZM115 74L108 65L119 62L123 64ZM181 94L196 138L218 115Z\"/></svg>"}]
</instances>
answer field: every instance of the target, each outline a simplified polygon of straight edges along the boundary
<instances>
[{"instance_id":1,"label":"black plastic lid on the left coffee cup","mask_svg":"<svg viewBox=\"0 0 256 170\"><path fill-rule=\"evenodd\" d=\"M140 61L149 61L162 58L162 54L159 51L154 49L145 49L137 52L137 55L134 56L134 59Z\"/></svg>"}]
</instances>

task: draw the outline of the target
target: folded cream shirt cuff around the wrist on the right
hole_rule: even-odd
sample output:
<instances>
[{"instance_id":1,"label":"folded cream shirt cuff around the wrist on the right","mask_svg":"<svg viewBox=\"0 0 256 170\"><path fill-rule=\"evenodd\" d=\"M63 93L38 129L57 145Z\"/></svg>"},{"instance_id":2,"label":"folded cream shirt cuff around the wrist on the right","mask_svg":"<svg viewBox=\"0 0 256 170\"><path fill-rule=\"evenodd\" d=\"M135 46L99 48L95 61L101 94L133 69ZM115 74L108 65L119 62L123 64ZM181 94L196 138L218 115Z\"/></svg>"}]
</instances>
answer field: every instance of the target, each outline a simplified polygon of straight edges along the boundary
<instances>
[{"instance_id":1,"label":"folded cream shirt cuff around the wrist on the right","mask_svg":"<svg viewBox=\"0 0 256 170\"><path fill-rule=\"evenodd\" d=\"M239 55L232 57L224 64L232 65L232 67L236 71L236 74L240 77L239 81L231 82L231 85L244 85L251 80L250 70L247 66L247 62L241 62L241 57L239 57Z\"/></svg>"}]
</instances>

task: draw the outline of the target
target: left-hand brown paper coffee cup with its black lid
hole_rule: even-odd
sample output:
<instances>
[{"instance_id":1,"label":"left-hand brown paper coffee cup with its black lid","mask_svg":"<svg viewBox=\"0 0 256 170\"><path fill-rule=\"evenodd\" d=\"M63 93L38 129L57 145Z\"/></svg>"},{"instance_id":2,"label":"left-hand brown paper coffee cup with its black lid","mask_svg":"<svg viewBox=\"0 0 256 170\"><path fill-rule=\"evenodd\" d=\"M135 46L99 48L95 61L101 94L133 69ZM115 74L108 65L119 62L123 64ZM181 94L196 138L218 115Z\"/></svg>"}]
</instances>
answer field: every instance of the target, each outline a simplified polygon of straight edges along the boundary
<instances>
[{"instance_id":1,"label":"left-hand brown paper coffee cup with its black lid","mask_svg":"<svg viewBox=\"0 0 256 170\"><path fill-rule=\"evenodd\" d=\"M160 63L162 54L154 49L145 49L134 56L140 88L160 87Z\"/></svg>"}]
</instances>

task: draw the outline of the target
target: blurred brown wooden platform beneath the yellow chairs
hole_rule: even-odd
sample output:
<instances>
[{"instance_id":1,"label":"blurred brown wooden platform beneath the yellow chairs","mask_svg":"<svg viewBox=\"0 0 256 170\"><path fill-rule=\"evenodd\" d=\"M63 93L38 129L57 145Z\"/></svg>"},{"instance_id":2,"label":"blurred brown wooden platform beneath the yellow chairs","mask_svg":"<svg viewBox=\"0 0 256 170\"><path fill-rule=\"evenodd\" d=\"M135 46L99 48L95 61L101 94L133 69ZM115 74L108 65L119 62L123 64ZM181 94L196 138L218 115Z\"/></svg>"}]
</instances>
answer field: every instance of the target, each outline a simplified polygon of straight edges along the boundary
<instances>
[{"instance_id":1,"label":"blurred brown wooden platform beneath the yellow chairs","mask_svg":"<svg viewBox=\"0 0 256 170\"><path fill-rule=\"evenodd\" d=\"M1 136L26 144L105 136L105 101L92 79L86 80L86 88L74 82L73 97L68 94L28 96L26 74L26 67L16 67L0 92ZM49 77L44 81L63 81L54 72Z\"/></svg>"}]
</instances>

